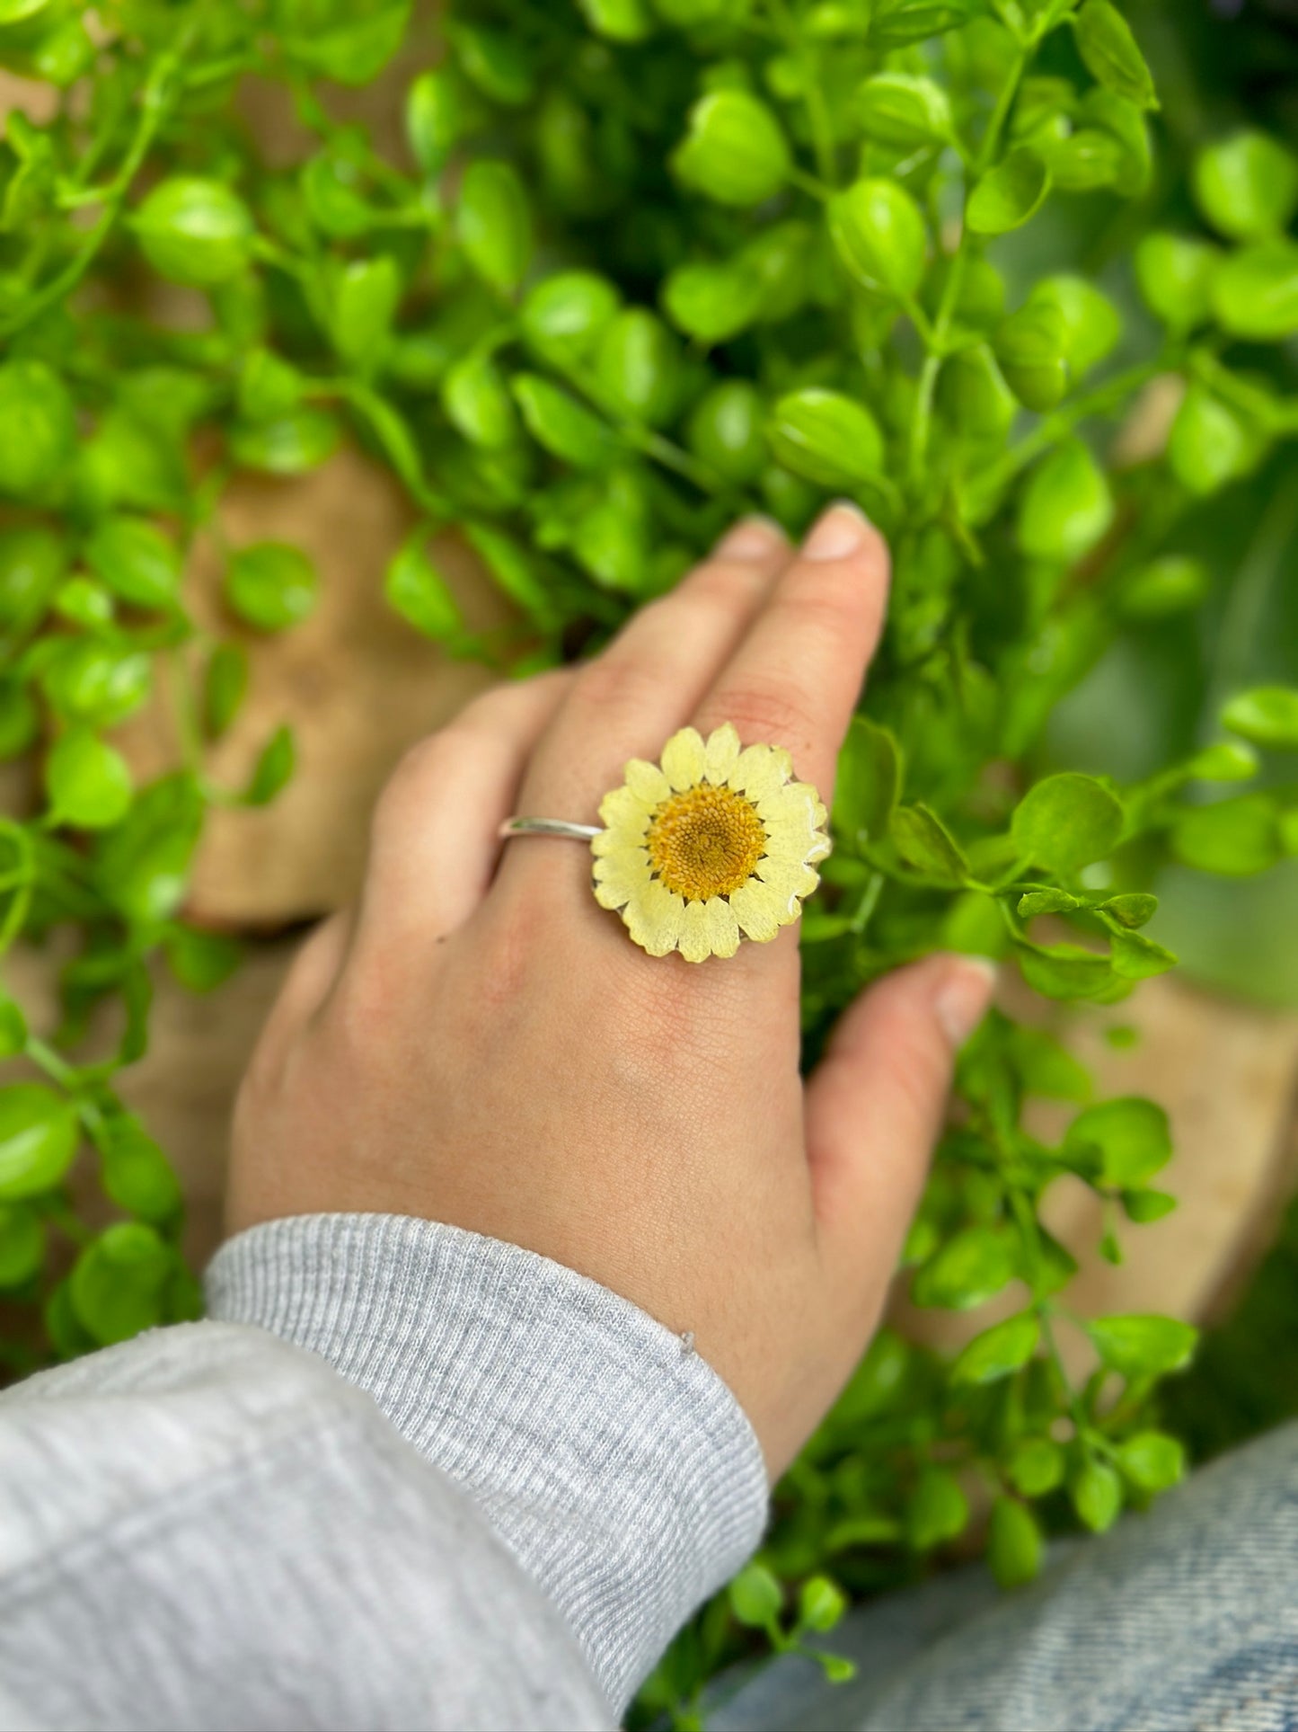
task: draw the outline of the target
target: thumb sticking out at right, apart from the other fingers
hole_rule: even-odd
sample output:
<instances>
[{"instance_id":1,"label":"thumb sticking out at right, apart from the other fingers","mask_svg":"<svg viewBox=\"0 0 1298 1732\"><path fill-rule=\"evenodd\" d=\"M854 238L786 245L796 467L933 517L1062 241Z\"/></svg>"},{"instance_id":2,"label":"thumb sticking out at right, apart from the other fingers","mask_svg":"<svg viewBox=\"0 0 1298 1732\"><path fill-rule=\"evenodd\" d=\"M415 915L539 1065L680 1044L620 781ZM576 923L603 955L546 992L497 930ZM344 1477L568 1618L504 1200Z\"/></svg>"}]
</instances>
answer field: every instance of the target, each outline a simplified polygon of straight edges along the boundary
<instances>
[{"instance_id":1,"label":"thumb sticking out at right, apart from the other fingers","mask_svg":"<svg viewBox=\"0 0 1298 1732\"><path fill-rule=\"evenodd\" d=\"M862 992L806 1084L806 1155L829 1270L883 1294L947 1114L955 1053L992 1003L983 956L926 956ZM845 1294L848 1297L848 1294Z\"/></svg>"}]
</instances>

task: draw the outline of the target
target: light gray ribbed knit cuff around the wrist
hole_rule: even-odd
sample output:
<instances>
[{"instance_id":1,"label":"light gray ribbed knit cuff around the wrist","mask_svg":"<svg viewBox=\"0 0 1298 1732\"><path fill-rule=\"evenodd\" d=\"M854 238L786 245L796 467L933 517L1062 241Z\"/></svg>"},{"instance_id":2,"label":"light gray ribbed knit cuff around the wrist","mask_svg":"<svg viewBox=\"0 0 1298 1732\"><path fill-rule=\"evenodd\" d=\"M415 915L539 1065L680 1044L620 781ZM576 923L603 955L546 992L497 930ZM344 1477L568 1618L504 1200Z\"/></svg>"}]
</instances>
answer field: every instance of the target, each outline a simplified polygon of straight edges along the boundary
<instances>
[{"instance_id":1,"label":"light gray ribbed knit cuff around the wrist","mask_svg":"<svg viewBox=\"0 0 1298 1732\"><path fill-rule=\"evenodd\" d=\"M208 1309L329 1360L450 1474L559 1606L621 1715L756 1548L761 1450L661 1323L549 1257L384 1214L228 1240Z\"/></svg>"}]
</instances>

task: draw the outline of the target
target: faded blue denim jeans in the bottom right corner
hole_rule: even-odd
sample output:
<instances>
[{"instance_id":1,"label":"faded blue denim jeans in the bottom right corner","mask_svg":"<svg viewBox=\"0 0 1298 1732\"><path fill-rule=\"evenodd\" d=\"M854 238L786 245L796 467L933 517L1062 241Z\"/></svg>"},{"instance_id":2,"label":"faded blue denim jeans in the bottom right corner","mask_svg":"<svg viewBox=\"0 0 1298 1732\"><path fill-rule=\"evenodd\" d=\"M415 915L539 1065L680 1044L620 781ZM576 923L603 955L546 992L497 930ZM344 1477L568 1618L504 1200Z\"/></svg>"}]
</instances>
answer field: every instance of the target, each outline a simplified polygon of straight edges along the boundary
<instances>
[{"instance_id":1,"label":"faded blue denim jeans in the bottom right corner","mask_svg":"<svg viewBox=\"0 0 1298 1732\"><path fill-rule=\"evenodd\" d=\"M1224 1457L1030 1588L981 1566L865 1606L827 1685L777 1661L710 1732L1298 1732L1298 1425Z\"/></svg>"}]
</instances>

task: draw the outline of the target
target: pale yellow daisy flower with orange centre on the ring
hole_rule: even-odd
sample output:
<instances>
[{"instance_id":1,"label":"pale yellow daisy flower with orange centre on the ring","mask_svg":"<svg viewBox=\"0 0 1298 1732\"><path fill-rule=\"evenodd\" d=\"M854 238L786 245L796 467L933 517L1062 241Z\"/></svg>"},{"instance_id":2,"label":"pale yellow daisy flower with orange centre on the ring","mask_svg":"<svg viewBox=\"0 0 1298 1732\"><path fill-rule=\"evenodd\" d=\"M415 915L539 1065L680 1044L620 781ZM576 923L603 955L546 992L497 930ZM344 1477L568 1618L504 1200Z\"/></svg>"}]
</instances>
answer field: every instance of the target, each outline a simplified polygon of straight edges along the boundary
<instances>
[{"instance_id":1,"label":"pale yellow daisy flower with orange centre on the ring","mask_svg":"<svg viewBox=\"0 0 1298 1732\"><path fill-rule=\"evenodd\" d=\"M651 956L689 963L767 944L801 914L831 849L815 788L782 746L741 746L732 722L704 741L682 727L661 767L630 759L599 807L595 901Z\"/></svg>"}]
</instances>

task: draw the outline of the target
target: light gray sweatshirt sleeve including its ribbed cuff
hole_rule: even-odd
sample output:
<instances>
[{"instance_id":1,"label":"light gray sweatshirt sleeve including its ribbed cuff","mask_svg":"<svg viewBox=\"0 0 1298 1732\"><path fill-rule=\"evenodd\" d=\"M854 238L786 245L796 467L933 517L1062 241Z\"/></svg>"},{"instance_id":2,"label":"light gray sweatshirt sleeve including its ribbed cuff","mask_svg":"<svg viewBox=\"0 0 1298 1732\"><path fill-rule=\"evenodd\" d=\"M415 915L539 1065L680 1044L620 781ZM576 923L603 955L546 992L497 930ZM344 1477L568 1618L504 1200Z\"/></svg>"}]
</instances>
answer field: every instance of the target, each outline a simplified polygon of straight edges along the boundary
<instances>
[{"instance_id":1,"label":"light gray sweatshirt sleeve including its ribbed cuff","mask_svg":"<svg viewBox=\"0 0 1298 1732\"><path fill-rule=\"evenodd\" d=\"M760 1540L729 1389L545 1257L303 1216L208 1302L0 1398L3 1725L607 1727Z\"/></svg>"}]
</instances>

